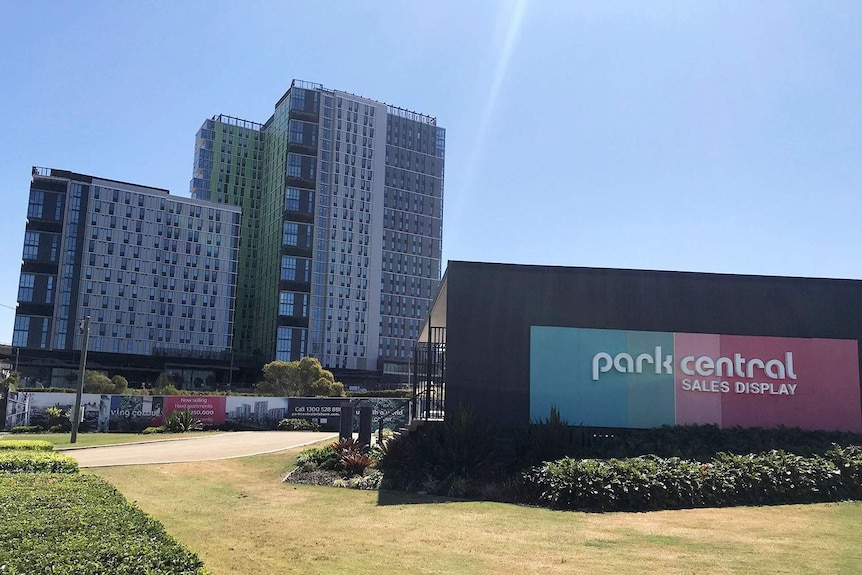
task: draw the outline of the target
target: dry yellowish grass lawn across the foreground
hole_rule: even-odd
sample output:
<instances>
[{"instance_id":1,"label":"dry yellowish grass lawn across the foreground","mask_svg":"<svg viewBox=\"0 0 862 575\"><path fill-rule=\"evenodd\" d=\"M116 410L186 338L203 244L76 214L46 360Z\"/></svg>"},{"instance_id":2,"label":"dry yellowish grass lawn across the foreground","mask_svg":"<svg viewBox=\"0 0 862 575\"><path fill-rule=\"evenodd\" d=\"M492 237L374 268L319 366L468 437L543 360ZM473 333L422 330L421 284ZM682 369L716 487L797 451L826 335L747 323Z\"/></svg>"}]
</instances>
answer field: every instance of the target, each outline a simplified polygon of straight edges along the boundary
<instances>
[{"instance_id":1,"label":"dry yellowish grass lawn across the foreground","mask_svg":"<svg viewBox=\"0 0 862 575\"><path fill-rule=\"evenodd\" d=\"M88 472L215 575L862 572L860 502L559 512L282 484L296 453Z\"/></svg>"}]
</instances>

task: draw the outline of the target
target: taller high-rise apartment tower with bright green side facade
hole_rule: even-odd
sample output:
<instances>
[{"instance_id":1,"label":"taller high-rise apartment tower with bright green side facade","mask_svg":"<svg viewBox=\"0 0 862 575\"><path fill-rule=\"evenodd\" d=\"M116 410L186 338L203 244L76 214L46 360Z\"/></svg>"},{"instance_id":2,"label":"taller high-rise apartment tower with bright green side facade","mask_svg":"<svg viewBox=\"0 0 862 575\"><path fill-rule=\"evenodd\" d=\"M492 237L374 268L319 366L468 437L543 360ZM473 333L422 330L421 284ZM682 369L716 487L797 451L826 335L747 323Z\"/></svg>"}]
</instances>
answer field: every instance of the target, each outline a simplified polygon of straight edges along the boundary
<instances>
[{"instance_id":1,"label":"taller high-rise apartment tower with bright green side facade","mask_svg":"<svg viewBox=\"0 0 862 575\"><path fill-rule=\"evenodd\" d=\"M191 194L243 209L237 351L407 379L441 273L445 130L294 81L263 124L197 134Z\"/></svg>"}]
</instances>

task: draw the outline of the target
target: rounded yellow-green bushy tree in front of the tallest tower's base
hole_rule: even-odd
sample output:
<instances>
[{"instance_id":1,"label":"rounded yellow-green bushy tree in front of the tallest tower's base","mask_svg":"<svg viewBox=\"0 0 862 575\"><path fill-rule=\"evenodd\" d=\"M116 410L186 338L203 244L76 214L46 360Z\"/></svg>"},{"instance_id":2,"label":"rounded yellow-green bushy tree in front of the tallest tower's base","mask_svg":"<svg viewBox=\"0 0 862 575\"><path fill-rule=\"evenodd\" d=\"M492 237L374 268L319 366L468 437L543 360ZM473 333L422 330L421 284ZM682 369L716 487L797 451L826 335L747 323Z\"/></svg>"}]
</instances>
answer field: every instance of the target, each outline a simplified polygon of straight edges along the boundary
<instances>
[{"instance_id":1,"label":"rounded yellow-green bushy tree in front of the tallest tower's base","mask_svg":"<svg viewBox=\"0 0 862 575\"><path fill-rule=\"evenodd\" d=\"M257 391L285 397L343 397L344 385L313 357L299 361L272 361L263 366L263 381Z\"/></svg>"}]
</instances>

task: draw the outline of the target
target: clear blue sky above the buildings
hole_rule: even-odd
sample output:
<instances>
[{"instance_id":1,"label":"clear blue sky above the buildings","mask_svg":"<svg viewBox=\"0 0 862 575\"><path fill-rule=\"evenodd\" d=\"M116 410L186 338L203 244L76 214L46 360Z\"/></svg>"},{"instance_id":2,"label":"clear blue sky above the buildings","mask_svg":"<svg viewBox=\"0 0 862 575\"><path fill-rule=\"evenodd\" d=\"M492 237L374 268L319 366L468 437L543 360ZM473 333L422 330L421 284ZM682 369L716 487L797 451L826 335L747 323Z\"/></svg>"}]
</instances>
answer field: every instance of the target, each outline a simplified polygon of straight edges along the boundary
<instances>
[{"instance_id":1,"label":"clear blue sky above the buildings","mask_svg":"<svg viewBox=\"0 0 862 575\"><path fill-rule=\"evenodd\" d=\"M862 278L862 3L0 0L0 341L30 167L188 194L293 78L447 129L444 258Z\"/></svg>"}]
</instances>

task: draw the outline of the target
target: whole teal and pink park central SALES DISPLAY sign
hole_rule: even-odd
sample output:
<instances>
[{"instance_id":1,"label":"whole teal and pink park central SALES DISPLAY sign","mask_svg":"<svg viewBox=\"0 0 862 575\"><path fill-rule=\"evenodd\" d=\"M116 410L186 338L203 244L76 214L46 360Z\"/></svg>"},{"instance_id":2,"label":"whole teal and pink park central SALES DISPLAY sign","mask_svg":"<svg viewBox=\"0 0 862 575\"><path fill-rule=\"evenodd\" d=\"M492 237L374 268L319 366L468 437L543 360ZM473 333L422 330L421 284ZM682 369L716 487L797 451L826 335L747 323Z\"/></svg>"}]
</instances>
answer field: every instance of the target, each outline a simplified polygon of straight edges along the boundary
<instances>
[{"instance_id":1,"label":"whole teal and pink park central SALES DISPLAY sign","mask_svg":"<svg viewBox=\"0 0 862 575\"><path fill-rule=\"evenodd\" d=\"M530 419L862 432L856 340L532 326Z\"/></svg>"}]
</instances>

